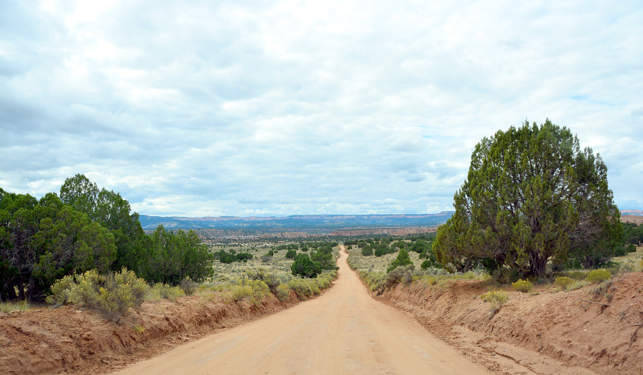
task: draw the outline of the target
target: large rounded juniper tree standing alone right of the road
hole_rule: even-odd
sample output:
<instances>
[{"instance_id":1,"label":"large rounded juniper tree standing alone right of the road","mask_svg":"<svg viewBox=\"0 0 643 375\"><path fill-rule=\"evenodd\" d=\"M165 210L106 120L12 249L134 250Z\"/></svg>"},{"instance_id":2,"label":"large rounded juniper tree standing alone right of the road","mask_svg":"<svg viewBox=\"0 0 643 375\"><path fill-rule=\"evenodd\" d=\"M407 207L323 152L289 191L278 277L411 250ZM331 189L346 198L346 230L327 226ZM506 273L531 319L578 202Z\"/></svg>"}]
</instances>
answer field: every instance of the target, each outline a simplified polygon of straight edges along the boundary
<instances>
[{"instance_id":1,"label":"large rounded juniper tree standing alone right of the road","mask_svg":"<svg viewBox=\"0 0 643 375\"><path fill-rule=\"evenodd\" d=\"M548 261L595 266L620 239L600 155L549 119L482 139L453 199L433 251L461 270L479 259L536 276Z\"/></svg>"}]
</instances>

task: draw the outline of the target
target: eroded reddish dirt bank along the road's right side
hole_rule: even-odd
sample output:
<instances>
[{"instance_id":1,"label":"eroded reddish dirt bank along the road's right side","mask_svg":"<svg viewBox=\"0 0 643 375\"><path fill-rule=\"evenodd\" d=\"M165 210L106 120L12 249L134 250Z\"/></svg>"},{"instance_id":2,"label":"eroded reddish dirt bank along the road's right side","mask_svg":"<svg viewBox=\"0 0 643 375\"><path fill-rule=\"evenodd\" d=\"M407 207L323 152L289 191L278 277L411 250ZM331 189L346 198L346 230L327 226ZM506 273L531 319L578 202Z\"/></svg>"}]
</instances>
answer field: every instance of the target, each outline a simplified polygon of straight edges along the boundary
<instances>
[{"instance_id":1,"label":"eroded reddish dirt bank along the road's right side","mask_svg":"<svg viewBox=\"0 0 643 375\"><path fill-rule=\"evenodd\" d=\"M625 274L596 289L511 291L495 315L478 298L487 292L484 281L398 284L376 298L412 313L464 353L507 356L541 374L569 372L572 366L599 374L643 374L643 329L637 331L643 322L643 274Z\"/></svg>"}]
</instances>

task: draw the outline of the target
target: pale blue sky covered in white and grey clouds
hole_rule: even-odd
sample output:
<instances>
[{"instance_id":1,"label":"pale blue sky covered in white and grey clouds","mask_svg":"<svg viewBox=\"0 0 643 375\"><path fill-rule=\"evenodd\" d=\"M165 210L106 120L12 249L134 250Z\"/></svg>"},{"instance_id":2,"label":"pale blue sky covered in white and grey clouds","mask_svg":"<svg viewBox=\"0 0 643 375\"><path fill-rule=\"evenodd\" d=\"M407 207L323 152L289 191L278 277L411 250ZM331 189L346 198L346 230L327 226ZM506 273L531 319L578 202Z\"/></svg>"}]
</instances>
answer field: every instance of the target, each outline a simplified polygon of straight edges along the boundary
<instances>
[{"instance_id":1,"label":"pale blue sky covered in white and grey clouds","mask_svg":"<svg viewBox=\"0 0 643 375\"><path fill-rule=\"evenodd\" d=\"M525 118L643 209L643 3L3 1L0 187L142 214L438 213Z\"/></svg>"}]
</instances>

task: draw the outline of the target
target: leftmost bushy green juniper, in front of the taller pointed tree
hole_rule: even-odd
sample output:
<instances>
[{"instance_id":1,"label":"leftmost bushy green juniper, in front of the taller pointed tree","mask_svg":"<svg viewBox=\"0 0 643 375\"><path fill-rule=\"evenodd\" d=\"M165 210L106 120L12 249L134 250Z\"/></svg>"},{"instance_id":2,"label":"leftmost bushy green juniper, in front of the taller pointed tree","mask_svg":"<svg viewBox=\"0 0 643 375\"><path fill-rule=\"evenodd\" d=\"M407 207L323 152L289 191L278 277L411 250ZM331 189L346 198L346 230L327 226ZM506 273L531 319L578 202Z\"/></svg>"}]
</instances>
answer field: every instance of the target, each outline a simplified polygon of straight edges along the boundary
<instances>
[{"instance_id":1,"label":"leftmost bushy green juniper, in front of the taller pointed tree","mask_svg":"<svg viewBox=\"0 0 643 375\"><path fill-rule=\"evenodd\" d=\"M113 234L54 193L36 200L0 189L1 298L42 296L64 275L109 270L115 257Z\"/></svg>"}]
</instances>

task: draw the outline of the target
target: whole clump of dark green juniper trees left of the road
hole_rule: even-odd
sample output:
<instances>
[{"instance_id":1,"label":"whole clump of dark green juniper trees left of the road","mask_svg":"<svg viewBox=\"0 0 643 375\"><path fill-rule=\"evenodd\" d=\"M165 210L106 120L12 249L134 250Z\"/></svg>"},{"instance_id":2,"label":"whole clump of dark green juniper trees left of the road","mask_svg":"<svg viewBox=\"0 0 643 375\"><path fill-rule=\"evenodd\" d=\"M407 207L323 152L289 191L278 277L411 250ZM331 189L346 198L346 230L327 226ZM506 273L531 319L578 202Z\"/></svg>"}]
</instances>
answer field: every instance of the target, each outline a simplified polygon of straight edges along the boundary
<instances>
[{"instance_id":1,"label":"whole clump of dark green juniper trees left of the road","mask_svg":"<svg viewBox=\"0 0 643 375\"><path fill-rule=\"evenodd\" d=\"M66 179L60 198L0 188L0 299L41 298L57 280L88 270L125 267L172 284L212 275L212 256L194 232L159 227L150 237L138 217L120 194L99 190L84 175Z\"/></svg>"}]
</instances>

